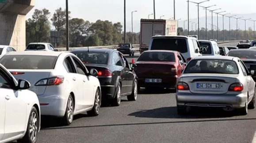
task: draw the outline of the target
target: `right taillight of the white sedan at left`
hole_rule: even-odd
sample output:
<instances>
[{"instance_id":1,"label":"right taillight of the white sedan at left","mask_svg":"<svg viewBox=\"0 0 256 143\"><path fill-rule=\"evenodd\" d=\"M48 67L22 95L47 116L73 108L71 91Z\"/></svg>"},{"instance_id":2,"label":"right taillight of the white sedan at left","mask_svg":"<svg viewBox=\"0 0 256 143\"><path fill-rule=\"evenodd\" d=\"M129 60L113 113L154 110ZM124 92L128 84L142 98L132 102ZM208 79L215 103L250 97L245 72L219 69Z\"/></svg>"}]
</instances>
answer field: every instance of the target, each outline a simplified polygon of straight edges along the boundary
<instances>
[{"instance_id":1,"label":"right taillight of the white sedan at left","mask_svg":"<svg viewBox=\"0 0 256 143\"><path fill-rule=\"evenodd\" d=\"M50 86L50 85L60 85L64 81L63 76L44 78L39 80L34 86Z\"/></svg>"}]
</instances>

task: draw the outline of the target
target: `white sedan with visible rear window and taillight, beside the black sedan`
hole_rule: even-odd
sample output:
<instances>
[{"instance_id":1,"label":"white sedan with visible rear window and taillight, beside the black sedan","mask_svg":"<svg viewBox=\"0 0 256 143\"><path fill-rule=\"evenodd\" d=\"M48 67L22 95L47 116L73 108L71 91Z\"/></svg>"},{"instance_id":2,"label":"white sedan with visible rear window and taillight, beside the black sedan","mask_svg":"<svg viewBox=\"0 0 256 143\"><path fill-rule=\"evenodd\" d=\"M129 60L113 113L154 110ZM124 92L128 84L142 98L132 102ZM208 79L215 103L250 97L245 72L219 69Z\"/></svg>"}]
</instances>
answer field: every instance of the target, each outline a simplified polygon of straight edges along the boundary
<instances>
[{"instance_id":1,"label":"white sedan with visible rear window and taillight, beside the black sedan","mask_svg":"<svg viewBox=\"0 0 256 143\"><path fill-rule=\"evenodd\" d=\"M76 55L61 51L18 51L0 58L17 79L31 83L38 95L41 114L62 117L70 125L73 115L99 114L101 88L97 70L90 73Z\"/></svg>"}]
</instances>

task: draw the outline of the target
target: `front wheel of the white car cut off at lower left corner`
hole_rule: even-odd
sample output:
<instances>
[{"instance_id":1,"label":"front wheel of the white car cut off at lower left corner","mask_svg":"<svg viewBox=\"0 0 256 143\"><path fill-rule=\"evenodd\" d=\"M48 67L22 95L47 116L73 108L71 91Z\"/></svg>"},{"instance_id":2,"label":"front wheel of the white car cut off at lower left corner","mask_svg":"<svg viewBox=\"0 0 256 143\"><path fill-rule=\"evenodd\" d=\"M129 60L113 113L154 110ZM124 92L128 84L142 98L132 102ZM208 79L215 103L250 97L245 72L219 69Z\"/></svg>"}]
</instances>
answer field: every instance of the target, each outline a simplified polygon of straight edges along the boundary
<instances>
[{"instance_id":1,"label":"front wheel of the white car cut off at lower left corner","mask_svg":"<svg viewBox=\"0 0 256 143\"><path fill-rule=\"evenodd\" d=\"M37 121L35 121L34 119L37 119ZM32 134L34 135L34 137L31 136L31 133L32 133L30 132L31 128L33 129L32 132L35 133L35 134ZM18 141L18 143L36 143L38 129L39 129L39 116L36 108L33 106L29 115L26 134L22 139Z\"/></svg>"}]
</instances>

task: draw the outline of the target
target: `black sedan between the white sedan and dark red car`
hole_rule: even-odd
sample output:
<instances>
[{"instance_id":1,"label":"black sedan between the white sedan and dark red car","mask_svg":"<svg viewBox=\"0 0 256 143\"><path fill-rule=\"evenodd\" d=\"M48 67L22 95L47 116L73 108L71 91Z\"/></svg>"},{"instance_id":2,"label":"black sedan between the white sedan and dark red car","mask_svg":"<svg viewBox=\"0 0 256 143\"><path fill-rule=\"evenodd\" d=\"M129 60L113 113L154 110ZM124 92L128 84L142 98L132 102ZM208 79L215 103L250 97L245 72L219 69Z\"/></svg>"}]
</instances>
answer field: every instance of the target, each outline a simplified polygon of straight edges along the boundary
<instances>
[{"instance_id":1,"label":"black sedan between the white sedan and dark red car","mask_svg":"<svg viewBox=\"0 0 256 143\"><path fill-rule=\"evenodd\" d=\"M137 76L129 62L119 51L112 49L76 49L71 51L84 65L98 71L102 101L119 106L121 97L135 101L138 95Z\"/></svg>"}]
</instances>

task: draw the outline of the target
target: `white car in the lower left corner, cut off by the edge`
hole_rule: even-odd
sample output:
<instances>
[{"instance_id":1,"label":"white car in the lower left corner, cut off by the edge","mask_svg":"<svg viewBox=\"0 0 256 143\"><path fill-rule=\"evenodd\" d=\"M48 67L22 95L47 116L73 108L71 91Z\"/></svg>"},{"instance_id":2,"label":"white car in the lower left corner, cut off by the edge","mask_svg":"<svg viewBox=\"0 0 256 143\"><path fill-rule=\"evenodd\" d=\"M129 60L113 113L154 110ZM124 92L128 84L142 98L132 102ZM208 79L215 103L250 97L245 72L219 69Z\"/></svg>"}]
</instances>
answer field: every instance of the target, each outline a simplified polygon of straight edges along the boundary
<instances>
[{"instance_id":1,"label":"white car in the lower left corner, cut off by the edge","mask_svg":"<svg viewBox=\"0 0 256 143\"><path fill-rule=\"evenodd\" d=\"M20 139L35 143L40 130L40 105L37 95L27 90L31 84L15 80L0 64L0 143Z\"/></svg>"}]
</instances>

